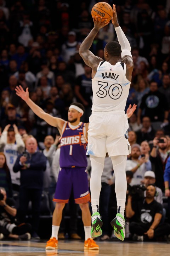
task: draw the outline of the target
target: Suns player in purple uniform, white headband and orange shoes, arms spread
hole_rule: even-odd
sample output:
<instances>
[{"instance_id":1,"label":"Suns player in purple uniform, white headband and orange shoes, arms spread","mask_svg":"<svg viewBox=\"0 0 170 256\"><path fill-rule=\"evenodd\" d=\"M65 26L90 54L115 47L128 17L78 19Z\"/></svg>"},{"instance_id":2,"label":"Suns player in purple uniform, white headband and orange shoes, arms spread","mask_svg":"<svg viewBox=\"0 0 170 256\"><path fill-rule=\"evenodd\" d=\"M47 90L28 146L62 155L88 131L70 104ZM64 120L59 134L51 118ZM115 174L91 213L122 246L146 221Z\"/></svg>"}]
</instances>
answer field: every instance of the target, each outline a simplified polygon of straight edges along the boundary
<instances>
[{"instance_id":1,"label":"Suns player in purple uniform, white headband and orange shoes, arms spread","mask_svg":"<svg viewBox=\"0 0 170 256\"><path fill-rule=\"evenodd\" d=\"M46 244L46 250L58 248L58 230L62 219L62 211L69 201L73 187L75 203L79 204L82 211L82 220L85 230L84 249L98 250L99 246L91 238L91 214L89 209L90 193L87 180L87 130L89 123L80 122L84 113L81 103L72 103L68 110L68 122L61 118L52 117L30 98L28 88L23 90L22 86L16 87L16 94L21 97L32 111L44 119L51 126L57 127L60 132L60 167L53 201L56 202L52 216L52 235Z\"/></svg>"}]
</instances>

